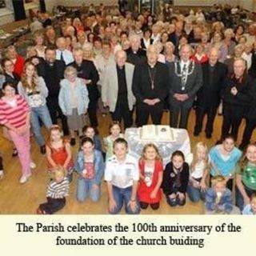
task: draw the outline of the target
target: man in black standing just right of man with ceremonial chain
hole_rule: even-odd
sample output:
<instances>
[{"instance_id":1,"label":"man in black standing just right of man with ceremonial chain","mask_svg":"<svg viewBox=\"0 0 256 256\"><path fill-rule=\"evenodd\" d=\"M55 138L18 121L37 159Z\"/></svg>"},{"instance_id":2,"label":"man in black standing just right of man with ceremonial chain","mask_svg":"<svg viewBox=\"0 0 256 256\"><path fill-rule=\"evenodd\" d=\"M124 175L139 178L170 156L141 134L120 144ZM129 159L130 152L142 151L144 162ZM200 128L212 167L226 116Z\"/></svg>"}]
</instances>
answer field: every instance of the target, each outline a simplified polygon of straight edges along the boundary
<instances>
[{"instance_id":1,"label":"man in black standing just right of man with ceremonial chain","mask_svg":"<svg viewBox=\"0 0 256 256\"><path fill-rule=\"evenodd\" d=\"M196 124L194 136L198 136L202 130L202 120L207 114L206 138L211 138L214 126L214 118L217 113L221 98L227 66L218 62L219 50L212 48L209 53L209 62L202 65L202 87L198 90L198 106L196 109Z\"/></svg>"}]
</instances>

